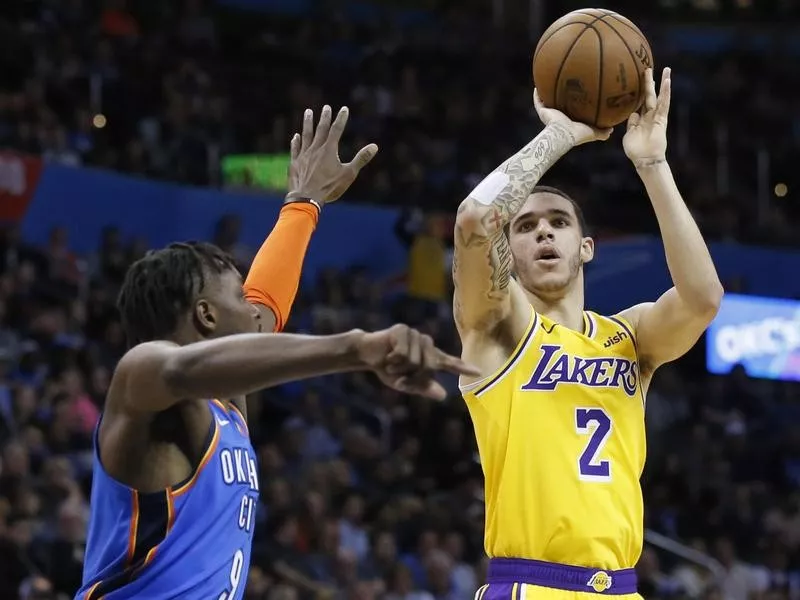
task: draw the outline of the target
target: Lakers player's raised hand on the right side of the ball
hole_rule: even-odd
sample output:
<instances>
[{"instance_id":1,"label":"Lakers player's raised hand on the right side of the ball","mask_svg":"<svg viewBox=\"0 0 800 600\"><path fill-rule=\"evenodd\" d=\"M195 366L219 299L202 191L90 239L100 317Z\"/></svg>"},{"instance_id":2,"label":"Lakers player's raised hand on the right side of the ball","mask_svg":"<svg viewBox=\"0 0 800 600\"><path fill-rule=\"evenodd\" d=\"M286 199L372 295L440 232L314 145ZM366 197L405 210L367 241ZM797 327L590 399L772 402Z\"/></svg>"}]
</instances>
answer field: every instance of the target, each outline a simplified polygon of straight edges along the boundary
<instances>
[{"instance_id":1,"label":"Lakers player's raised hand on the right side of the ball","mask_svg":"<svg viewBox=\"0 0 800 600\"><path fill-rule=\"evenodd\" d=\"M671 70L661 74L661 89L656 95L653 69L645 71L644 106L628 118L628 130L622 138L625 154L637 166L662 161L667 153L667 119L672 91Z\"/></svg>"}]
</instances>

